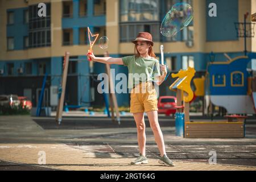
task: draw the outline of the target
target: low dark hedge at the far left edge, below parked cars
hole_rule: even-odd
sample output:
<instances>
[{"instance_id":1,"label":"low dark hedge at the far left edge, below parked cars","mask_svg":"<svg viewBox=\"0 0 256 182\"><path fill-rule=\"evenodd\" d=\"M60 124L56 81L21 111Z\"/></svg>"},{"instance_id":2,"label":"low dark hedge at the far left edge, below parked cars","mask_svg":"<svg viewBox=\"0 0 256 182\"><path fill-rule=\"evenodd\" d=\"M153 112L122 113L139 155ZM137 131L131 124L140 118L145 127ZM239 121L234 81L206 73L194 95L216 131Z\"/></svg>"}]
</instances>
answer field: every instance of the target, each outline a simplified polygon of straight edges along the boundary
<instances>
[{"instance_id":1,"label":"low dark hedge at the far left edge, below parked cars","mask_svg":"<svg viewBox=\"0 0 256 182\"><path fill-rule=\"evenodd\" d=\"M30 114L30 110L19 106L0 106L0 115L27 115Z\"/></svg>"}]
</instances>

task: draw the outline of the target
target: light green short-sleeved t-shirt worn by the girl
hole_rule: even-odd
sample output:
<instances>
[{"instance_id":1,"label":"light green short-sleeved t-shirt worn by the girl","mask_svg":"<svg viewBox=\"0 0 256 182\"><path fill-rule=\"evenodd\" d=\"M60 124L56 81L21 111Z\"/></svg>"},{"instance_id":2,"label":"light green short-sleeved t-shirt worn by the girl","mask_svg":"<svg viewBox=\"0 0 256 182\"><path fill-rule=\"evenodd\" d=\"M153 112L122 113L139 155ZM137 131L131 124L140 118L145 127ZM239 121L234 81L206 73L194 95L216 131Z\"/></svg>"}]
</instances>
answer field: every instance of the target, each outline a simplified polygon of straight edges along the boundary
<instances>
[{"instance_id":1,"label":"light green short-sleeved t-shirt worn by the girl","mask_svg":"<svg viewBox=\"0 0 256 182\"><path fill-rule=\"evenodd\" d=\"M160 76L160 64L155 58L127 56L123 57L123 65L128 67L128 88L134 88L139 82L153 81L154 77Z\"/></svg>"}]
</instances>

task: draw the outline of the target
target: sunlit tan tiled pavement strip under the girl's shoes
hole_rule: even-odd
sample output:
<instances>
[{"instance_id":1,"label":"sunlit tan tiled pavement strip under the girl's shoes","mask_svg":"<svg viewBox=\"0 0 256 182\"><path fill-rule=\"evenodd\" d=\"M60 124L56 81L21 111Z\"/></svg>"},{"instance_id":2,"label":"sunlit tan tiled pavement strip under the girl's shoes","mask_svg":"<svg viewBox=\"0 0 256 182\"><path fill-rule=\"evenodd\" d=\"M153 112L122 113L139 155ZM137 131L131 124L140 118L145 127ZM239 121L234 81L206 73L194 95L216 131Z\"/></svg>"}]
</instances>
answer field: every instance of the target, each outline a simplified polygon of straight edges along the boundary
<instances>
[{"instance_id":1,"label":"sunlit tan tiled pavement strip under the girl's shoes","mask_svg":"<svg viewBox=\"0 0 256 182\"><path fill-rule=\"evenodd\" d=\"M46 165L40 163L41 153L46 154ZM220 164L207 164L195 162L174 161L175 167L166 167L158 164L157 159L149 159L148 164L140 166L130 165L131 158L123 158L117 154L111 154L105 158L96 156L88 151L78 150L69 147L66 144L1 144L0 145L0 160L7 162L16 162L29 164L32 166L40 166L61 170L86 170L86 171L196 171L196 170L216 170L216 171L234 171L246 170L256 171L256 167L232 166Z\"/></svg>"}]
</instances>

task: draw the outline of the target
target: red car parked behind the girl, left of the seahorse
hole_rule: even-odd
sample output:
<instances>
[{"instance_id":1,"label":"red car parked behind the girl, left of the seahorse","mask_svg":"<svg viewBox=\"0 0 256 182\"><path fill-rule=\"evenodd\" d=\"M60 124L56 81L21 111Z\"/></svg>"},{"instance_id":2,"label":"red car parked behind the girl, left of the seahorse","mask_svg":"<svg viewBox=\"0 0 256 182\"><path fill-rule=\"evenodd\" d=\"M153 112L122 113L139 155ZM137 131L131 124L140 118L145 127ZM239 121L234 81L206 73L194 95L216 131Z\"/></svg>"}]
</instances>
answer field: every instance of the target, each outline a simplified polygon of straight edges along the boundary
<instances>
[{"instance_id":1,"label":"red car parked behind the girl, left of the seahorse","mask_svg":"<svg viewBox=\"0 0 256 182\"><path fill-rule=\"evenodd\" d=\"M159 114L175 114L177 99L174 96L160 96L158 99L158 113Z\"/></svg>"}]
</instances>

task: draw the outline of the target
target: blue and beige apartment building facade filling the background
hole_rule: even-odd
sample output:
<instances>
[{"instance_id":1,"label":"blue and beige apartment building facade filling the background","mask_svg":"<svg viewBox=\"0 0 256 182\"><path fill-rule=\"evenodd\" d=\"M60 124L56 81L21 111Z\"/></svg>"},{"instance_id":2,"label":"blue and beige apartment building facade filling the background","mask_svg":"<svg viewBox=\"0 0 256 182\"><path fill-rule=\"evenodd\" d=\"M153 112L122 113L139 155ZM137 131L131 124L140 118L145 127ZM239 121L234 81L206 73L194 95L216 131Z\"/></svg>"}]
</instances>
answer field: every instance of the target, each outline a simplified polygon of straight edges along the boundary
<instances>
[{"instance_id":1,"label":"blue and beige apartment building facade filling the background","mask_svg":"<svg viewBox=\"0 0 256 182\"><path fill-rule=\"evenodd\" d=\"M205 74L209 61L226 61L243 55L243 38L237 38L235 22L256 11L255 0L44 0L46 16L40 17L38 0L0 0L0 94L27 96L37 105L43 77L47 75L44 106L57 105L57 90L63 72L63 56L70 52L65 102L68 105L102 105L97 92L97 75L105 65L86 61L89 49L87 27L101 36L108 36L109 46L93 47L97 56L105 51L112 57L133 55L131 43L138 32L153 35L154 52L164 60L170 72L194 67L196 76ZM189 3L193 21L175 38L160 34L160 24L172 5ZM209 16L210 3L217 6L217 16ZM250 20L248 19L248 22ZM247 39L247 51L256 52L256 38ZM213 53L211 53L213 52ZM214 58L214 60L212 60ZM248 65L250 67L250 64ZM126 67L111 65L115 74ZM174 95L168 86L169 76L160 86L160 95ZM117 81L116 81L117 82ZM117 94L118 105L129 106L129 93Z\"/></svg>"}]
</instances>

